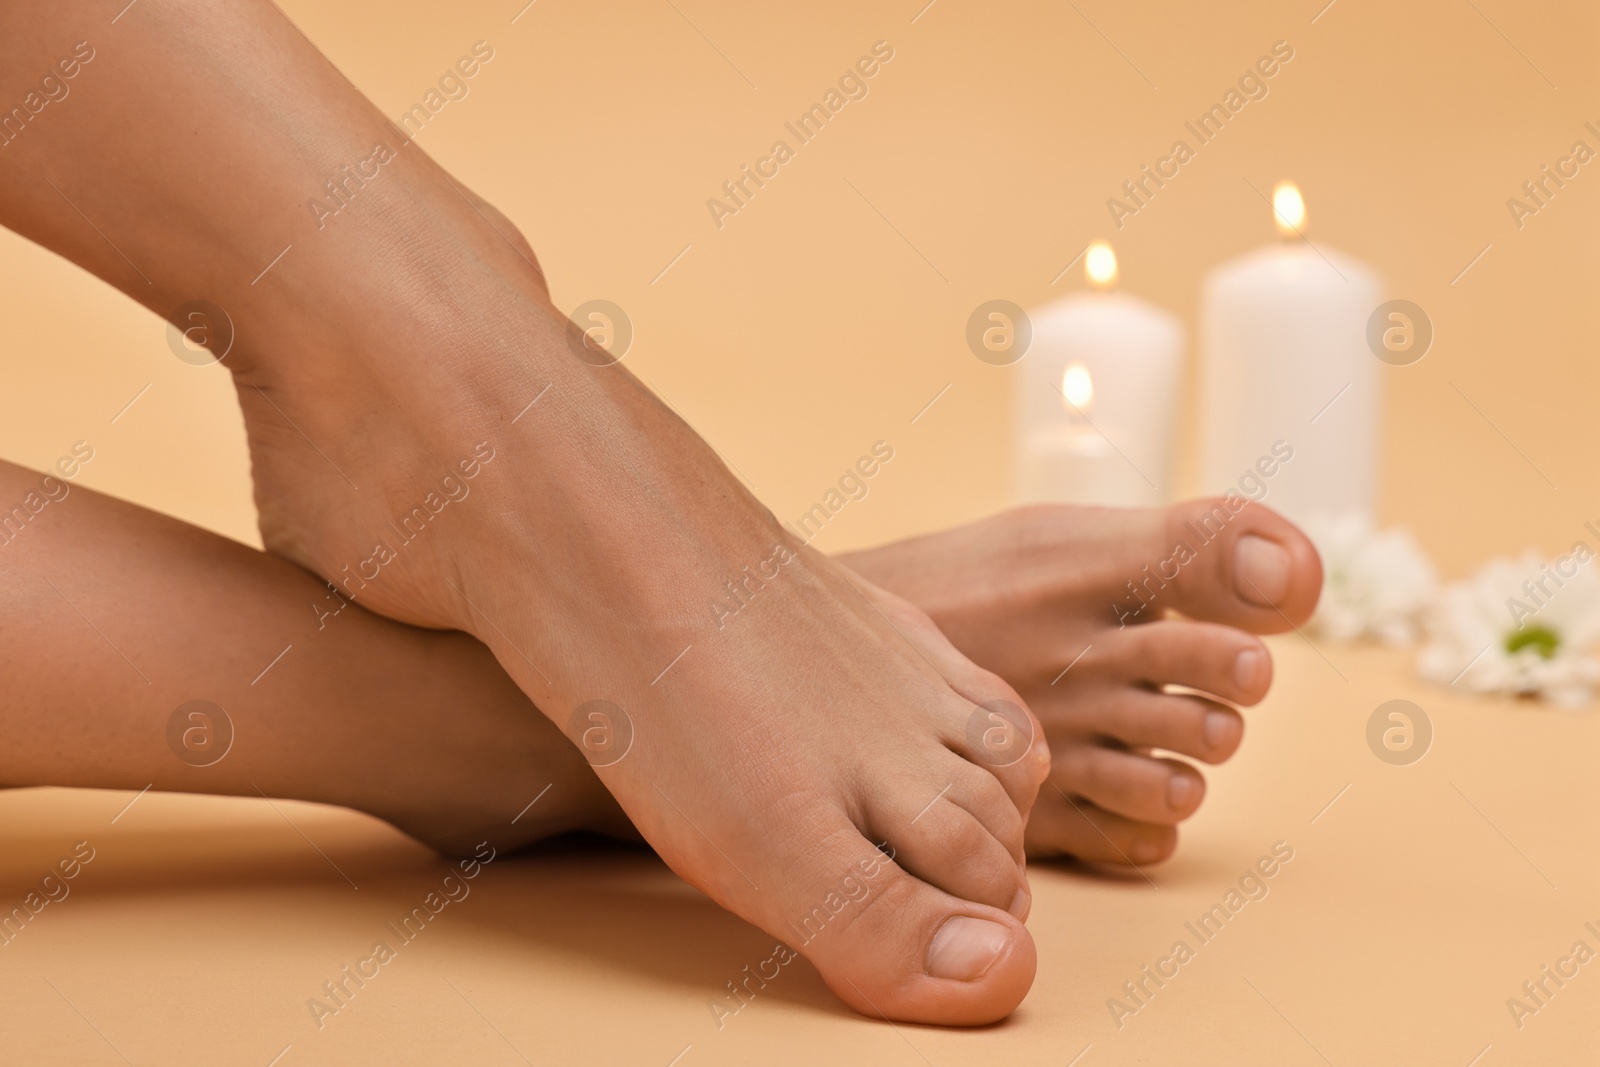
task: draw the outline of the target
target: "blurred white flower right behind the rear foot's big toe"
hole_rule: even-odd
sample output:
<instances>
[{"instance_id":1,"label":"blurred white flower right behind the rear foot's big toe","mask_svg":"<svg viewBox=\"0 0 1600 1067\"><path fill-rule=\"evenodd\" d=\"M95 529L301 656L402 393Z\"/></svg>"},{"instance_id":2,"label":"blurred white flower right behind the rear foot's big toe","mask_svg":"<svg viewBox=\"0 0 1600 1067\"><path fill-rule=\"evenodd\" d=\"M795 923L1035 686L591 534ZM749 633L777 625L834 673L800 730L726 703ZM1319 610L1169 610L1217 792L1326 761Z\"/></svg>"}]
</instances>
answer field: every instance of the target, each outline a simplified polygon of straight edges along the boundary
<instances>
[{"instance_id":1,"label":"blurred white flower right behind the rear foot's big toe","mask_svg":"<svg viewBox=\"0 0 1600 1067\"><path fill-rule=\"evenodd\" d=\"M1411 534L1360 514L1314 518L1306 533L1323 573L1312 625L1334 641L1413 643L1438 581Z\"/></svg>"}]
</instances>

